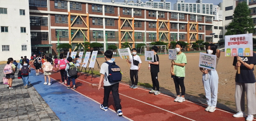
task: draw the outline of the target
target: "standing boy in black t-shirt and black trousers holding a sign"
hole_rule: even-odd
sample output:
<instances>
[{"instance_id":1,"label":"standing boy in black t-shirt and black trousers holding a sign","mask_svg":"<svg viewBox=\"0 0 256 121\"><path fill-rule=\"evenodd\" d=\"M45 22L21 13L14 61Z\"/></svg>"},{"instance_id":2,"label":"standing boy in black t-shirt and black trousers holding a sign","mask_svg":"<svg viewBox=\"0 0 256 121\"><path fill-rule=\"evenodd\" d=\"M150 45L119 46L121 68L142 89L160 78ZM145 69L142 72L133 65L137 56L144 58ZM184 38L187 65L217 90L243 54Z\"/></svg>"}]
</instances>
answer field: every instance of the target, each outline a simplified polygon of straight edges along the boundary
<instances>
[{"instance_id":1,"label":"standing boy in black t-shirt and black trousers holding a sign","mask_svg":"<svg viewBox=\"0 0 256 121\"><path fill-rule=\"evenodd\" d=\"M148 69L150 69L153 87L149 91L149 93L155 93L155 95L158 95L158 94L160 94L159 81L158 81L159 58L156 53L158 51L158 47L153 46L153 47L151 47L151 50L154 51L154 62L148 61L148 64L150 64ZM156 90L155 90L155 87L156 87Z\"/></svg>"}]
</instances>

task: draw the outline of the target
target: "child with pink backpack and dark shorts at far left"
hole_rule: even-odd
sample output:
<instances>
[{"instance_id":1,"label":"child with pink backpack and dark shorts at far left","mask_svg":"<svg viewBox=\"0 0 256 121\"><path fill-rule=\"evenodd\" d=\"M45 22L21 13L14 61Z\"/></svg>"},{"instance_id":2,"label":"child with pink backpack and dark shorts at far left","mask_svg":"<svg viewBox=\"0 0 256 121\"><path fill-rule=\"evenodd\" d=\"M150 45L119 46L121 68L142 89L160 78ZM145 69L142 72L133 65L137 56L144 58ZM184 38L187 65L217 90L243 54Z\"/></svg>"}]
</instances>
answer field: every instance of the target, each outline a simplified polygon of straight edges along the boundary
<instances>
[{"instance_id":1,"label":"child with pink backpack and dark shorts at far left","mask_svg":"<svg viewBox=\"0 0 256 121\"><path fill-rule=\"evenodd\" d=\"M13 89L12 84L13 84L13 79L15 78L14 77L15 65L13 64L13 58L8 58L7 65L11 65L12 69L13 69L13 73L12 74L6 74L6 76L5 76L8 79L7 88Z\"/></svg>"}]
</instances>

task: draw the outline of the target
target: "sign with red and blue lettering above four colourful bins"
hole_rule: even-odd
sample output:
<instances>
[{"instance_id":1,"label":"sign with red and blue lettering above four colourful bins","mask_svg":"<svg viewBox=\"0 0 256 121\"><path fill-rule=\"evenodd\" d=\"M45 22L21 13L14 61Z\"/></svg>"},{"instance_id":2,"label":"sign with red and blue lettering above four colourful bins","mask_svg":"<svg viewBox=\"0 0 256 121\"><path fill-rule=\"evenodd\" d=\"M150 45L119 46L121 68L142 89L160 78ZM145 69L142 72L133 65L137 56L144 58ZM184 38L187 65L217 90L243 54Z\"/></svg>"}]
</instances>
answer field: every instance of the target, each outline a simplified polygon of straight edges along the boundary
<instances>
[{"instance_id":1,"label":"sign with red and blue lettering above four colourful bins","mask_svg":"<svg viewBox=\"0 0 256 121\"><path fill-rule=\"evenodd\" d=\"M252 33L225 36L225 56L253 56Z\"/></svg>"}]
</instances>

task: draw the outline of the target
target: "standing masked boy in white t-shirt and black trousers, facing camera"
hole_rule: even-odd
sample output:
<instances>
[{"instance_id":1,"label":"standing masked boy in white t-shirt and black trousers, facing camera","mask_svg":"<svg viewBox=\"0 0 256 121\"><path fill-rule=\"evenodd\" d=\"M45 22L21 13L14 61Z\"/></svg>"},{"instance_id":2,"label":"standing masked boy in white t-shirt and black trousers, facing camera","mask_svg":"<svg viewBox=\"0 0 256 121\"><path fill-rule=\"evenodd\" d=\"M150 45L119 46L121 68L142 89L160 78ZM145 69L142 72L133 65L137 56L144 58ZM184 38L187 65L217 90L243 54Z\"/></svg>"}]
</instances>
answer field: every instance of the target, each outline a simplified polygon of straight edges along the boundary
<instances>
[{"instance_id":1,"label":"standing masked boy in white t-shirt and black trousers, facing camera","mask_svg":"<svg viewBox=\"0 0 256 121\"><path fill-rule=\"evenodd\" d=\"M130 68L130 78L132 81L132 85L130 86L130 88L138 88L137 84L138 84L138 72L140 71L141 68L141 58L139 55L137 55L137 50L135 48L132 49L132 53L133 53L133 58L130 58L130 60L126 60L131 64L131 68ZM135 63L134 63L135 61ZM134 81L135 78L135 81Z\"/></svg>"}]
</instances>

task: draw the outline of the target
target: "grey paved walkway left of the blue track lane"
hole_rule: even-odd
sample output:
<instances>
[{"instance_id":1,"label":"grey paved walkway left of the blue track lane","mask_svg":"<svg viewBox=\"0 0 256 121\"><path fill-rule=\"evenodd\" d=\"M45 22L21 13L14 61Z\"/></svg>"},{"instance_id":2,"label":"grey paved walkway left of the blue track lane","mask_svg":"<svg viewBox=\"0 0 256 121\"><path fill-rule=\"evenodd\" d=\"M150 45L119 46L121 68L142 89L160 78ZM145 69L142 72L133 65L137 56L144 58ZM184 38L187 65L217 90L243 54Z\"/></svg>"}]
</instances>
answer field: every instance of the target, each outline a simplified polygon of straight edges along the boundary
<instances>
[{"instance_id":1,"label":"grey paved walkway left of the blue track lane","mask_svg":"<svg viewBox=\"0 0 256 121\"><path fill-rule=\"evenodd\" d=\"M0 65L0 121L60 121L33 85L24 88L22 79L17 79L18 72L13 79L13 89L3 85L5 65Z\"/></svg>"}]
</instances>

